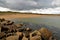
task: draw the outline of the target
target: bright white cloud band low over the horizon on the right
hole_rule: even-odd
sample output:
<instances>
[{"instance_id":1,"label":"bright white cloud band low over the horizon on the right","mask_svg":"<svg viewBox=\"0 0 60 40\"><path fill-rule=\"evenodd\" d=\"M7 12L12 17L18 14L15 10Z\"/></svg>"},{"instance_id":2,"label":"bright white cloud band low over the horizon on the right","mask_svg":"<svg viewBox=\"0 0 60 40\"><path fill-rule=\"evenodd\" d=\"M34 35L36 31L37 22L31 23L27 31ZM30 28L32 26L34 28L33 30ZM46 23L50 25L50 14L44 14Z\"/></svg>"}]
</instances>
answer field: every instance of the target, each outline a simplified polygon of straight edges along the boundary
<instances>
[{"instance_id":1,"label":"bright white cloud band low over the horizon on the right","mask_svg":"<svg viewBox=\"0 0 60 40\"><path fill-rule=\"evenodd\" d=\"M19 12L30 12L30 13L38 13L38 14L60 14L60 7L47 8L47 9L35 9L35 10L22 10Z\"/></svg>"}]
</instances>

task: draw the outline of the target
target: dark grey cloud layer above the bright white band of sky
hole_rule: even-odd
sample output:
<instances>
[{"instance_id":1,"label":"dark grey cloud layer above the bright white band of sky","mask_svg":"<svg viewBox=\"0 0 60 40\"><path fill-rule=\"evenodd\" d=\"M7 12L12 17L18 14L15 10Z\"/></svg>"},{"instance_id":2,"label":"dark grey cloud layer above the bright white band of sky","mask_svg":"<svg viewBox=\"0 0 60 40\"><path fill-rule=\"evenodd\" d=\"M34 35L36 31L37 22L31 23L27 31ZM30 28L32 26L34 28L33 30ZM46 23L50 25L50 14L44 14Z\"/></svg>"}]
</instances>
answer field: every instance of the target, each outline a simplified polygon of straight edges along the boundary
<instances>
[{"instance_id":1,"label":"dark grey cloud layer above the bright white band of sky","mask_svg":"<svg viewBox=\"0 0 60 40\"><path fill-rule=\"evenodd\" d=\"M60 0L0 0L0 7L11 10L53 10L56 8L60 10Z\"/></svg>"}]
</instances>

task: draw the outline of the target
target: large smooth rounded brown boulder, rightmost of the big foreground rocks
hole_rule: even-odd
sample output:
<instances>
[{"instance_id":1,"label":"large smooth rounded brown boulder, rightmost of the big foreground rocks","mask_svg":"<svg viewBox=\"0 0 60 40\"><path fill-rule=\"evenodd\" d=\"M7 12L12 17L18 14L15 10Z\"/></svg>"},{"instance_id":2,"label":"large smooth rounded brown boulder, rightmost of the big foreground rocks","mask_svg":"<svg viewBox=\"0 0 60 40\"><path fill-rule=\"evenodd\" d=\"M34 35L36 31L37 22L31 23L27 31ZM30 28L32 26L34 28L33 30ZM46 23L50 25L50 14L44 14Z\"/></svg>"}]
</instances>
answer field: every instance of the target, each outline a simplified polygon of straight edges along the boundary
<instances>
[{"instance_id":1,"label":"large smooth rounded brown boulder, rightmost of the big foreground rocks","mask_svg":"<svg viewBox=\"0 0 60 40\"><path fill-rule=\"evenodd\" d=\"M39 32L41 33L42 38L43 38L44 40L48 40L48 39L52 36L52 32L49 31L49 30L46 29L46 28L41 28L41 29L39 30Z\"/></svg>"}]
</instances>

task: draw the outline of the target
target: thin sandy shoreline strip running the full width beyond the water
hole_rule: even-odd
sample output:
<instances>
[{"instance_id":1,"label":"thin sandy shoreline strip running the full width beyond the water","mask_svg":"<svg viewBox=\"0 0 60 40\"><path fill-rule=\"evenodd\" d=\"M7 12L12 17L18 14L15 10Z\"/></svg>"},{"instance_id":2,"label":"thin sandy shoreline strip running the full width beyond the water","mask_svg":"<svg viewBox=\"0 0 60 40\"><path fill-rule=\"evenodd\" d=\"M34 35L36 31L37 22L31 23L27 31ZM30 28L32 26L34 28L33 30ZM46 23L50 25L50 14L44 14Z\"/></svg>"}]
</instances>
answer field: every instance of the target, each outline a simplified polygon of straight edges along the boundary
<instances>
[{"instance_id":1,"label":"thin sandy shoreline strip running the full width beyond the water","mask_svg":"<svg viewBox=\"0 0 60 40\"><path fill-rule=\"evenodd\" d=\"M15 19L15 18L36 18L36 17L44 17L44 16L60 16L60 15L55 15L55 14L2 14L0 15L0 18L5 18L5 19Z\"/></svg>"}]
</instances>

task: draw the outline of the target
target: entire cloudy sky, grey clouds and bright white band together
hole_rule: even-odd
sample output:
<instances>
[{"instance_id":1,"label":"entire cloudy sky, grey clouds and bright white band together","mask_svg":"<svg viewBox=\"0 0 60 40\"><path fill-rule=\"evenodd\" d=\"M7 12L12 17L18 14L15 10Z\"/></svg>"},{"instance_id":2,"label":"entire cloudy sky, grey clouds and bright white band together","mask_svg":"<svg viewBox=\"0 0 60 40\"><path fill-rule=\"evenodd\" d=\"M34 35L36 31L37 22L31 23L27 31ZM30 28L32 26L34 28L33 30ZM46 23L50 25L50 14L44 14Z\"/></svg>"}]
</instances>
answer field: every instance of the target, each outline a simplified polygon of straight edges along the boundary
<instances>
[{"instance_id":1,"label":"entire cloudy sky, grey clouds and bright white band together","mask_svg":"<svg viewBox=\"0 0 60 40\"><path fill-rule=\"evenodd\" d=\"M0 11L60 13L60 0L0 0Z\"/></svg>"}]
</instances>

